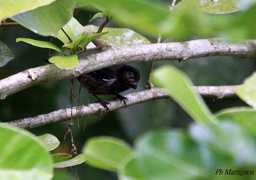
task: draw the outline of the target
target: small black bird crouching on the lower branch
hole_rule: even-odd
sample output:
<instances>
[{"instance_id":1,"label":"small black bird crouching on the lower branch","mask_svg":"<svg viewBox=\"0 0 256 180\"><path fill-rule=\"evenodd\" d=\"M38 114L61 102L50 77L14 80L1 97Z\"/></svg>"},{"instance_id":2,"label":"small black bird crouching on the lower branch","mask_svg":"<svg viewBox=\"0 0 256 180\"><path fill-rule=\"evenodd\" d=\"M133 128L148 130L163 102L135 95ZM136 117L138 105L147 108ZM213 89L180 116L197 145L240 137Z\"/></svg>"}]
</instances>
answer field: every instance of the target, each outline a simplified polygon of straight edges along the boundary
<instances>
[{"instance_id":1,"label":"small black bird crouching on the lower branch","mask_svg":"<svg viewBox=\"0 0 256 180\"><path fill-rule=\"evenodd\" d=\"M100 95L116 95L118 99L125 104L128 99L119 93L130 89L137 88L137 83L140 80L140 71L127 64L111 66L108 68L93 71L77 77L79 83L98 99L96 102L108 109L109 102L102 101L96 94Z\"/></svg>"}]
</instances>

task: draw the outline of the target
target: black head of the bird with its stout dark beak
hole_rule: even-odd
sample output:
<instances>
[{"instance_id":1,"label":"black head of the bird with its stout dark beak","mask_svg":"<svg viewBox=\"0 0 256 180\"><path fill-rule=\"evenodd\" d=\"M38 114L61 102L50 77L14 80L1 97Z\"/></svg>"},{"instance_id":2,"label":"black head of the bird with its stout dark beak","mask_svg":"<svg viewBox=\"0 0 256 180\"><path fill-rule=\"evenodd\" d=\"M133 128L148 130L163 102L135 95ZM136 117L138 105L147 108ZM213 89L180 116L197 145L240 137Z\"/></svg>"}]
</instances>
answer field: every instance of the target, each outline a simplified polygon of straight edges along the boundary
<instances>
[{"instance_id":1,"label":"black head of the bird with its stout dark beak","mask_svg":"<svg viewBox=\"0 0 256 180\"><path fill-rule=\"evenodd\" d=\"M122 80L124 81L125 86L136 89L138 82L140 80L140 71L137 68L128 66L128 65L124 66L122 68L122 71L123 71Z\"/></svg>"}]
</instances>

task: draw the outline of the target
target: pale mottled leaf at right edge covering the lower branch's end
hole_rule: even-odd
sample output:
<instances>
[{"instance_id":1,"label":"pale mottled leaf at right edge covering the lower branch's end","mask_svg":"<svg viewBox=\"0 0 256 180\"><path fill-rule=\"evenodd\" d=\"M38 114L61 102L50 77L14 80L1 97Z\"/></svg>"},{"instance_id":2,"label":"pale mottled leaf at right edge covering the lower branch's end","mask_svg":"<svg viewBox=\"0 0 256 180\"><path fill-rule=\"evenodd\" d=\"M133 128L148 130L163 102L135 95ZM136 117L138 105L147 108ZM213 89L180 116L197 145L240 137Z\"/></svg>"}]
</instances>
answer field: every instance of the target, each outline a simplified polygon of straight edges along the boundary
<instances>
[{"instance_id":1,"label":"pale mottled leaf at right edge covering the lower branch's end","mask_svg":"<svg viewBox=\"0 0 256 180\"><path fill-rule=\"evenodd\" d=\"M243 85L236 89L236 94L256 109L256 72L244 80Z\"/></svg>"}]
</instances>

